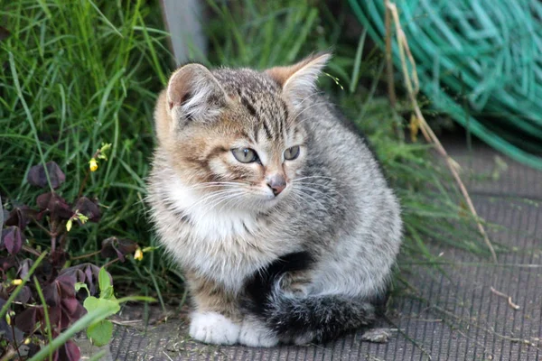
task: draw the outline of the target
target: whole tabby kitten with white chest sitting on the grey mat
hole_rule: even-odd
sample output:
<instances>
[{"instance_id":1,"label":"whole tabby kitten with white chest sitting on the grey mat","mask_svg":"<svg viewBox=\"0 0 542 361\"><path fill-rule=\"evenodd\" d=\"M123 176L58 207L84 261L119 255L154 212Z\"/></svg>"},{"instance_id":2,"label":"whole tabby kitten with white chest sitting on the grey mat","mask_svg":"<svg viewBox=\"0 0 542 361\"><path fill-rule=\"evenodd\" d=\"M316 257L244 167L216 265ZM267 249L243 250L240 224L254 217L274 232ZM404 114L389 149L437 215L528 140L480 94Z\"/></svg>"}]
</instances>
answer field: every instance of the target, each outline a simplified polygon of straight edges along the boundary
<instances>
[{"instance_id":1,"label":"whole tabby kitten with white chest sitting on the grey mat","mask_svg":"<svg viewBox=\"0 0 542 361\"><path fill-rule=\"evenodd\" d=\"M330 57L264 72L188 64L158 97L151 214L192 294L192 338L322 342L375 318L400 208L316 91Z\"/></svg>"}]
</instances>

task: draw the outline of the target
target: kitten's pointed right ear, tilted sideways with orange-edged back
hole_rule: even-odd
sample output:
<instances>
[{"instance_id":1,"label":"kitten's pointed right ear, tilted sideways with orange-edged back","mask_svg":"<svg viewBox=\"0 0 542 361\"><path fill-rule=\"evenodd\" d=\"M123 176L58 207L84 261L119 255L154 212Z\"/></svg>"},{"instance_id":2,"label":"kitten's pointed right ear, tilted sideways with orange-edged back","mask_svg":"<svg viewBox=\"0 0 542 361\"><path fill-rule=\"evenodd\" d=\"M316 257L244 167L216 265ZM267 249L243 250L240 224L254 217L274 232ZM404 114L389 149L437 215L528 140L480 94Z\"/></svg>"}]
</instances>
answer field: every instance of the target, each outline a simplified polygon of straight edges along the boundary
<instances>
[{"instance_id":1,"label":"kitten's pointed right ear, tilted sideways with orange-edged back","mask_svg":"<svg viewBox=\"0 0 542 361\"><path fill-rule=\"evenodd\" d=\"M297 106L304 98L313 94L316 80L331 58L332 54L329 52L319 53L289 67L267 69L266 73L275 79L283 88L285 96Z\"/></svg>"}]
</instances>

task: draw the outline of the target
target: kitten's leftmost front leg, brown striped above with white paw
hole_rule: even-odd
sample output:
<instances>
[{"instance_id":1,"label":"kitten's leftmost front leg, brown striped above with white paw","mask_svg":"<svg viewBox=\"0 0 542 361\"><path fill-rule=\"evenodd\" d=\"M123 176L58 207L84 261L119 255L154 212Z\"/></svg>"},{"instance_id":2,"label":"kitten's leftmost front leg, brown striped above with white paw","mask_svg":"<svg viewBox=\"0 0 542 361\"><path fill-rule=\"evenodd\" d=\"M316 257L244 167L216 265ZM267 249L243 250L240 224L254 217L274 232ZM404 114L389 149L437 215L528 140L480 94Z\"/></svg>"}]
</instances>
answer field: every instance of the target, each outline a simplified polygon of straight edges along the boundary
<instances>
[{"instance_id":1,"label":"kitten's leftmost front leg, brown striped above with white paw","mask_svg":"<svg viewBox=\"0 0 542 361\"><path fill-rule=\"evenodd\" d=\"M242 318L236 297L217 282L190 272L185 276L195 307L190 336L208 344L237 343Z\"/></svg>"}]
</instances>

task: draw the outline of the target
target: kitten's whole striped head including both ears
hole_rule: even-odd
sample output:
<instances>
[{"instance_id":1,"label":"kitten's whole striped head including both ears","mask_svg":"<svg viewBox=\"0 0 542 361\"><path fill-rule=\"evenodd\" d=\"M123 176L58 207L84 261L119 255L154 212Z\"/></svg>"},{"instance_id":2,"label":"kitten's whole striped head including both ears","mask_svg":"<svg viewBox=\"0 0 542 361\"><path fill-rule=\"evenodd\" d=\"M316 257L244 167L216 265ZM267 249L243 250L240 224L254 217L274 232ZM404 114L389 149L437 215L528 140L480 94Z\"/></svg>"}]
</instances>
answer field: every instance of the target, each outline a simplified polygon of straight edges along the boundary
<instances>
[{"instance_id":1,"label":"kitten's whole striped head including both ears","mask_svg":"<svg viewBox=\"0 0 542 361\"><path fill-rule=\"evenodd\" d=\"M265 210L288 197L308 152L298 115L312 88L286 86L299 71L211 73L190 64L173 73L161 96L165 109L156 110L158 139L206 207ZM311 84L306 69L299 76Z\"/></svg>"}]
</instances>

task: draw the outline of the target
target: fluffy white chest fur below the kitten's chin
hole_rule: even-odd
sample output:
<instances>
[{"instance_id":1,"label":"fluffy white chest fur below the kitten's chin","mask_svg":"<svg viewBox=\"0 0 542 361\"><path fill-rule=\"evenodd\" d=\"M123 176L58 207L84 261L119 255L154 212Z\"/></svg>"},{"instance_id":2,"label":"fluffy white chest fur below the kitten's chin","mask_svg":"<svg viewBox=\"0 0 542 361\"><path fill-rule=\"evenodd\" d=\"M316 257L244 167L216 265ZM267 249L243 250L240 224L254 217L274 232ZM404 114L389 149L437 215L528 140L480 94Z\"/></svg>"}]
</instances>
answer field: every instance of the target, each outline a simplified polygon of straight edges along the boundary
<instances>
[{"instance_id":1,"label":"fluffy white chest fur below the kitten's chin","mask_svg":"<svg viewBox=\"0 0 542 361\"><path fill-rule=\"evenodd\" d=\"M260 227L256 215L209 207L201 195L174 182L168 201L178 213L168 215L162 239L183 266L238 291L248 275L276 258L280 248L266 242L272 232ZM180 214L186 222L180 222Z\"/></svg>"}]
</instances>

